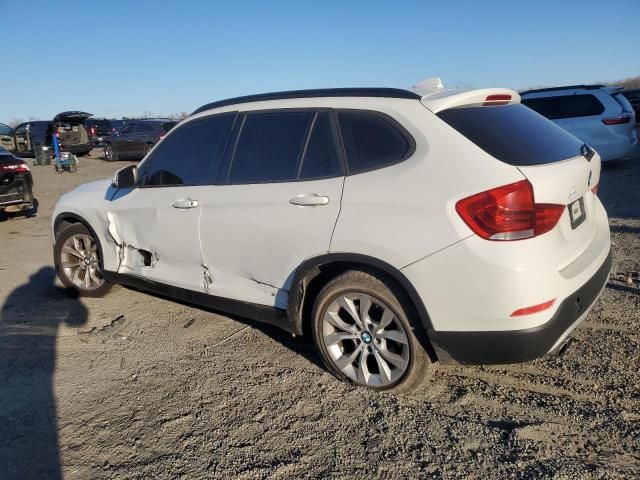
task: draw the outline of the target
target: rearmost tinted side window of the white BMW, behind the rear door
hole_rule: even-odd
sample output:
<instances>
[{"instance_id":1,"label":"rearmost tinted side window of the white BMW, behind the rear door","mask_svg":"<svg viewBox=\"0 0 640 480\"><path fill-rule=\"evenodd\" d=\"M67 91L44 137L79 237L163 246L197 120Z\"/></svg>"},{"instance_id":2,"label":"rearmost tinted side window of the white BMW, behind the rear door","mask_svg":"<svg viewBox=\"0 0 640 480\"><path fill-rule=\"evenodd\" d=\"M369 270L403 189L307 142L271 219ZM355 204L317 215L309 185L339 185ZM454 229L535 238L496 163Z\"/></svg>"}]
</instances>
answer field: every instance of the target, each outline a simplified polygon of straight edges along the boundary
<instances>
[{"instance_id":1,"label":"rearmost tinted side window of the white BMW, behind the rear door","mask_svg":"<svg viewBox=\"0 0 640 480\"><path fill-rule=\"evenodd\" d=\"M408 133L386 115L341 111L338 119L350 173L390 165L411 153Z\"/></svg>"}]
</instances>

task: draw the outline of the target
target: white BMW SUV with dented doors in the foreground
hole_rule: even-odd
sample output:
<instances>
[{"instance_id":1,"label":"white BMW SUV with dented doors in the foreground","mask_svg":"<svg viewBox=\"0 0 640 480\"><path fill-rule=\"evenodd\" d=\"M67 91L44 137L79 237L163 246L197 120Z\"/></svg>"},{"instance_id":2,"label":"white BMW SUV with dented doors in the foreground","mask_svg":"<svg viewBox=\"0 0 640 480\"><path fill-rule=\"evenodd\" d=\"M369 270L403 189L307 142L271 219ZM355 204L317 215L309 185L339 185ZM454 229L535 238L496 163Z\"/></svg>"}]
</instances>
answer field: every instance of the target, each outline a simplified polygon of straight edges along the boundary
<instances>
[{"instance_id":1,"label":"white BMW SUV with dented doors in the foreground","mask_svg":"<svg viewBox=\"0 0 640 480\"><path fill-rule=\"evenodd\" d=\"M196 110L52 219L61 281L277 325L338 378L563 345L610 269L600 157L508 89L281 92Z\"/></svg>"}]
</instances>

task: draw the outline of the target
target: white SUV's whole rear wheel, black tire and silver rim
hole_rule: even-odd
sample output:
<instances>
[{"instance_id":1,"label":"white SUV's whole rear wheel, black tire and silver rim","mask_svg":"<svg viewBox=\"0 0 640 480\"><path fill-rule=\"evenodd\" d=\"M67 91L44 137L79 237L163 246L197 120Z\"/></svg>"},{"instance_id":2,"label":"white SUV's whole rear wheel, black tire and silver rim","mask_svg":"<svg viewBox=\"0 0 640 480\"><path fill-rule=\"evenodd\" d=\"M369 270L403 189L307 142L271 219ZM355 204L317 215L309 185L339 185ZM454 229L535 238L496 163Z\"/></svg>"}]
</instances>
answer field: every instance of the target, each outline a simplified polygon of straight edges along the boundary
<instances>
[{"instance_id":1,"label":"white SUV's whole rear wheel, black tire and silver rim","mask_svg":"<svg viewBox=\"0 0 640 480\"><path fill-rule=\"evenodd\" d=\"M311 322L316 347L335 377L392 393L416 390L430 378L431 360L405 297L388 279L358 270L325 285L314 302ZM368 306L365 328L363 304Z\"/></svg>"}]
</instances>

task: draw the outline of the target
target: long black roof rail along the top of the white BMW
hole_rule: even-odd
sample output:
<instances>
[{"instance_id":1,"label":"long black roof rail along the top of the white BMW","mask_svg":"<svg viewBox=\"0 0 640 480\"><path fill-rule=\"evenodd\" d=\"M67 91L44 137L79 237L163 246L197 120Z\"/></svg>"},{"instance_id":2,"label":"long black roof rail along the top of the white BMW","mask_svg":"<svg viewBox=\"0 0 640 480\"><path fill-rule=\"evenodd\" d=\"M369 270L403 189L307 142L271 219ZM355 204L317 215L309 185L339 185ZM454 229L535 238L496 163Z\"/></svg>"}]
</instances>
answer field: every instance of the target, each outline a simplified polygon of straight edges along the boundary
<instances>
[{"instance_id":1,"label":"long black roof rail along the top of the white BMW","mask_svg":"<svg viewBox=\"0 0 640 480\"><path fill-rule=\"evenodd\" d=\"M207 103L198 108L192 115L211 110L212 108L226 107L240 103L264 102L267 100L285 100L289 98L314 98L314 97L384 97L406 98L418 100L422 98L417 93L400 88L319 88L315 90L290 90L288 92L260 93L244 97L229 98L217 102Z\"/></svg>"}]
</instances>

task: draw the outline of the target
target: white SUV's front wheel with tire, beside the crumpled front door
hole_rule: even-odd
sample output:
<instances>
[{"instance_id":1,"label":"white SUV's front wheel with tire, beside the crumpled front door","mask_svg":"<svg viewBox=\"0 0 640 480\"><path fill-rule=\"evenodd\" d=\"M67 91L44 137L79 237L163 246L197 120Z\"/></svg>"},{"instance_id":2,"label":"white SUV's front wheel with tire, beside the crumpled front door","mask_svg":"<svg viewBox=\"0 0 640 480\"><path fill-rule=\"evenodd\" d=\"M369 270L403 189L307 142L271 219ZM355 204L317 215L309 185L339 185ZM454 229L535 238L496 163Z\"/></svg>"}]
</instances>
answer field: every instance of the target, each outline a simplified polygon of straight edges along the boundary
<instances>
[{"instance_id":1,"label":"white SUV's front wheel with tire, beside the crumpled front door","mask_svg":"<svg viewBox=\"0 0 640 480\"><path fill-rule=\"evenodd\" d=\"M112 287L102 277L98 240L81 223L60 232L53 247L53 259L62 284L80 296L103 297Z\"/></svg>"}]
</instances>

